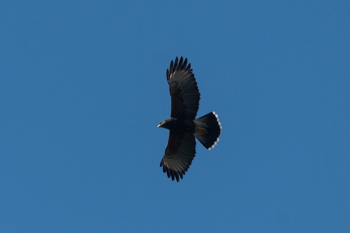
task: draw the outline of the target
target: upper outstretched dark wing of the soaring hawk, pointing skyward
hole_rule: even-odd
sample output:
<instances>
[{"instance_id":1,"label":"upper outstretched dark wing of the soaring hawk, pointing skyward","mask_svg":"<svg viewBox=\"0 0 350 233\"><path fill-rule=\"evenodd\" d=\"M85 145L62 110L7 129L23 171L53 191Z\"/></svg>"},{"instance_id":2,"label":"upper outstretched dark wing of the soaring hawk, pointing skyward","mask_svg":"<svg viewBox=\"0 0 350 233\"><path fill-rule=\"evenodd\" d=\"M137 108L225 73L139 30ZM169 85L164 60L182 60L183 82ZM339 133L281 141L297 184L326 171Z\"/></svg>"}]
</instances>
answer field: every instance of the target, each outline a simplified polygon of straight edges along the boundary
<instances>
[{"instance_id":1,"label":"upper outstretched dark wing of the soaring hawk, pointing skyward","mask_svg":"<svg viewBox=\"0 0 350 233\"><path fill-rule=\"evenodd\" d=\"M191 63L187 66L187 58L176 57L167 69L167 80L172 101L171 117L177 119L194 120L199 108L199 93L195 75L192 73Z\"/></svg>"}]
</instances>

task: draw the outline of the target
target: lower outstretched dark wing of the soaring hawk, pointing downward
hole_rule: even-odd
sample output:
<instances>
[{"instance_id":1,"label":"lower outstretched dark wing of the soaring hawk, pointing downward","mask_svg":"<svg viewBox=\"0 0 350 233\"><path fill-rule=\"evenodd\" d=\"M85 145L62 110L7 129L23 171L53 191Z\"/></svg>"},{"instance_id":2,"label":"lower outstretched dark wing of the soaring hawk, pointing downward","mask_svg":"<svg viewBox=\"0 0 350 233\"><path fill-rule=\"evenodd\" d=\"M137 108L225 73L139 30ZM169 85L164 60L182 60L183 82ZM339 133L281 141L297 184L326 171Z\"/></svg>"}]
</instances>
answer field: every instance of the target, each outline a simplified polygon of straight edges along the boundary
<instances>
[{"instance_id":1,"label":"lower outstretched dark wing of the soaring hawk, pointing downward","mask_svg":"<svg viewBox=\"0 0 350 233\"><path fill-rule=\"evenodd\" d=\"M163 172L167 173L168 178L176 178L179 182L179 177L182 179L187 172L195 154L196 140L192 133L170 130L168 145L160 166L163 166Z\"/></svg>"}]
</instances>

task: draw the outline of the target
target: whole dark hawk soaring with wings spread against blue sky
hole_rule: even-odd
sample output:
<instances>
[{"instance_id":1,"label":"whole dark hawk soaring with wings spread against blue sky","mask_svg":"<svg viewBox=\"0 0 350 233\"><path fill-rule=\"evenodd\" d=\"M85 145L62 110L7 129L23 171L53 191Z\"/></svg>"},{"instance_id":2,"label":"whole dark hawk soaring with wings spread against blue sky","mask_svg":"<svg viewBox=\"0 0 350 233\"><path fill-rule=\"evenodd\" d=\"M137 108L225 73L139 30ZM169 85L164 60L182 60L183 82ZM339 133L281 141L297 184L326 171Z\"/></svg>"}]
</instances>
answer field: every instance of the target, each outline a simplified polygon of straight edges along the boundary
<instances>
[{"instance_id":1,"label":"whole dark hawk soaring with wings spread against blue sky","mask_svg":"<svg viewBox=\"0 0 350 233\"><path fill-rule=\"evenodd\" d=\"M192 73L191 63L187 58L176 57L167 69L167 80L170 89L170 118L159 123L158 127L169 130L168 145L160 166L168 178L179 182L179 178L190 167L196 154L196 140L210 150L219 141L221 125L218 115L210 112L196 119L199 108L197 82Z\"/></svg>"}]
</instances>

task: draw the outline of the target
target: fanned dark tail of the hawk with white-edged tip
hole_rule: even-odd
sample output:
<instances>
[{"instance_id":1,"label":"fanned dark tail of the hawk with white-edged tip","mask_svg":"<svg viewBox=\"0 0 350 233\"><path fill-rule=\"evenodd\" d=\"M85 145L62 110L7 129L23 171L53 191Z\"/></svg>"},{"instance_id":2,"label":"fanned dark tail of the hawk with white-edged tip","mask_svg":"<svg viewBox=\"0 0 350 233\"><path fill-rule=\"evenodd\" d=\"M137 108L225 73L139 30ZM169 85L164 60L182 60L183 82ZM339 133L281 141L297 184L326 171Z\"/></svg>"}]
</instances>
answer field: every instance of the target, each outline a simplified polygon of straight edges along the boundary
<instances>
[{"instance_id":1,"label":"fanned dark tail of the hawk with white-edged tip","mask_svg":"<svg viewBox=\"0 0 350 233\"><path fill-rule=\"evenodd\" d=\"M216 146L221 134L221 123L215 112L210 112L194 120L196 129L194 136L202 145L210 150Z\"/></svg>"}]
</instances>

